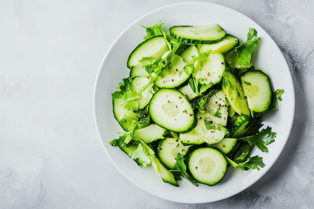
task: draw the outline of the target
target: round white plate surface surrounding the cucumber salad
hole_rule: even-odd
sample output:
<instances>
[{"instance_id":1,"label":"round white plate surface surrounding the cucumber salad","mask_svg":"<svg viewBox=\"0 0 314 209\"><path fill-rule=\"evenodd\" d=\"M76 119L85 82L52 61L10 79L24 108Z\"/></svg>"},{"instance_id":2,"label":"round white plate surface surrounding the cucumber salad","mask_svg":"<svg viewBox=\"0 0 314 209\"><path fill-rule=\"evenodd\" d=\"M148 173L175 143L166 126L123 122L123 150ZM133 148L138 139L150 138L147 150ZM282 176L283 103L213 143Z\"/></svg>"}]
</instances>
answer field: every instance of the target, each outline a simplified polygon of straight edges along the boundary
<instances>
[{"instance_id":1,"label":"round white plate surface surrounding the cucumber salad","mask_svg":"<svg viewBox=\"0 0 314 209\"><path fill-rule=\"evenodd\" d=\"M129 53L143 41L145 30L138 24L151 26L159 21L164 27L174 25L205 25L217 23L228 34L246 40L248 28L254 28L261 37L254 54L254 66L270 75L274 89L284 89L283 101L279 110L264 116L264 124L270 125L277 133L276 141L268 146L269 153L255 149L252 155L264 158L265 167L261 170L242 171L228 168L225 178L216 186L200 184L195 187L187 180L179 180L180 187L164 183L153 169L141 168L132 162L119 148L111 147L108 142L121 132L113 117L111 93L116 90L122 78L128 77L126 61ZM269 35L255 22L232 9L204 2L173 4L154 10L136 20L114 41L99 68L94 91L94 117L99 137L109 158L116 168L132 183L141 189L164 199L184 202L203 203L230 197L239 193L261 178L281 153L290 133L294 116L294 90L287 63L279 48ZM118 185L118 184L117 184ZM121 186L121 185L118 185Z\"/></svg>"}]
</instances>

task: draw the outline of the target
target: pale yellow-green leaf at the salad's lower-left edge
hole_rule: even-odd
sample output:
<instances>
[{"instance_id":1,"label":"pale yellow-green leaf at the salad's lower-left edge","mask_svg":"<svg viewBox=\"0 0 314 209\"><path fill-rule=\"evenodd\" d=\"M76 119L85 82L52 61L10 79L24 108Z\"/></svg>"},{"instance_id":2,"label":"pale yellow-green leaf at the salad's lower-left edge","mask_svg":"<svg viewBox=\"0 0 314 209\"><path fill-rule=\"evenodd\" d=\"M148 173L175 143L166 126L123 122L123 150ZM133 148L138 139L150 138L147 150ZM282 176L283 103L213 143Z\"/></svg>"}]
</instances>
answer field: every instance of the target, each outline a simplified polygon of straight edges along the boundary
<instances>
[{"instance_id":1,"label":"pale yellow-green leaf at the salad's lower-left edge","mask_svg":"<svg viewBox=\"0 0 314 209\"><path fill-rule=\"evenodd\" d=\"M137 149L129 154L129 156L136 160L143 167L146 167L148 164L151 163L151 156L153 156L154 151L144 142L140 140L140 143L137 146Z\"/></svg>"}]
</instances>

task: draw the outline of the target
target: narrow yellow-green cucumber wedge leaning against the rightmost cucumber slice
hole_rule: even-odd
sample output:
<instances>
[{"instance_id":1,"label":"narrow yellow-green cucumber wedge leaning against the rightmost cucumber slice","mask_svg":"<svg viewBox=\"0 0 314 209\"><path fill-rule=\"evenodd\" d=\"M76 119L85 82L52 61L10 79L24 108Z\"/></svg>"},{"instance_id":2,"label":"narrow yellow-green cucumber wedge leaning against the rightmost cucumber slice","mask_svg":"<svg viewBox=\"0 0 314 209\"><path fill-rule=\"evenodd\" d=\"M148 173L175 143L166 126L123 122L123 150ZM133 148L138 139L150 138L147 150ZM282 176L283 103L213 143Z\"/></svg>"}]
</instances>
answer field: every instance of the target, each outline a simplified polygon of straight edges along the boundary
<instances>
[{"instance_id":1,"label":"narrow yellow-green cucumber wedge leaning against the rightmost cucumber slice","mask_svg":"<svg viewBox=\"0 0 314 209\"><path fill-rule=\"evenodd\" d=\"M250 109L244 96L242 85L230 71L226 71L223 74L221 86L228 102L236 113L239 115L250 115Z\"/></svg>"}]
</instances>

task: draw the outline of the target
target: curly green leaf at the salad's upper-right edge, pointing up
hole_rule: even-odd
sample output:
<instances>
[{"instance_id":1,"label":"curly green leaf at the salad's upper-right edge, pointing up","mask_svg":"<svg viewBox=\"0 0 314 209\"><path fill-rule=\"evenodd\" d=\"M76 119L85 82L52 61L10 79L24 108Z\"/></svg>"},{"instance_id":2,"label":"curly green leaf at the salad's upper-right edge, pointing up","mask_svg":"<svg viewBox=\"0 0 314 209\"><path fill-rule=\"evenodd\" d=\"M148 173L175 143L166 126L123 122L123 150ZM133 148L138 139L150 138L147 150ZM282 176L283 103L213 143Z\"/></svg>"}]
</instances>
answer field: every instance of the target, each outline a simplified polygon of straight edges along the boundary
<instances>
[{"instance_id":1,"label":"curly green leaf at the salad's upper-right edge, pointing up","mask_svg":"<svg viewBox=\"0 0 314 209\"><path fill-rule=\"evenodd\" d=\"M249 28L246 42L241 42L239 46L227 53L225 60L230 67L237 69L250 68L253 60L253 53L260 37L257 37L255 29Z\"/></svg>"}]
</instances>

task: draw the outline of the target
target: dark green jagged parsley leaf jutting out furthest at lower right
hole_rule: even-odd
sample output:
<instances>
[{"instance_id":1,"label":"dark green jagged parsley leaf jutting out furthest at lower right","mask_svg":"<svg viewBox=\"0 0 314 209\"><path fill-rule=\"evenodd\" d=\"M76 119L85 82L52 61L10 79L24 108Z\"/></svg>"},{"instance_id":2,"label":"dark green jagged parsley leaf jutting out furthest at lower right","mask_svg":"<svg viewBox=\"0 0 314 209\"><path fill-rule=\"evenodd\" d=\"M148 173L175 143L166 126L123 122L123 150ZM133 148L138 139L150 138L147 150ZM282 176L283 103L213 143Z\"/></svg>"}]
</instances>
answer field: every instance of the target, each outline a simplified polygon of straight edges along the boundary
<instances>
[{"instance_id":1,"label":"dark green jagged parsley leaf jutting out furthest at lower right","mask_svg":"<svg viewBox=\"0 0 314 209\"><path fill-rule=\"evenodd\" d=\"M275 141L276 133L271 131L271 127L267 126L262 129L257 135L246 136L240 139L249 143L250 146L257 146L262 152L268 152L267 145Z\"/></svg>"}]
</instances>

